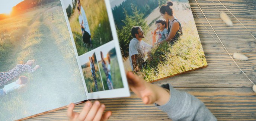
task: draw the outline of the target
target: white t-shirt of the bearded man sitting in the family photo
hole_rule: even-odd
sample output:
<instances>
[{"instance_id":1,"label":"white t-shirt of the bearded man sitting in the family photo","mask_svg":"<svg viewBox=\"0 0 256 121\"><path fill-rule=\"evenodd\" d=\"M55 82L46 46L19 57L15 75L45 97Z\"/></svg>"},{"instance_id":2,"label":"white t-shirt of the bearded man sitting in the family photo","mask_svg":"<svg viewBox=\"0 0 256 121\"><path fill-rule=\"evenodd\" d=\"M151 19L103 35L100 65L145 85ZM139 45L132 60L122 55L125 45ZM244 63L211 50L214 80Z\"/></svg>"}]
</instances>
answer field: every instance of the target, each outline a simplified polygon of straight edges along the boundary
<instances>
[{"instance_id":1,"label":"white t-shirt of the bearded man sitting in the family photo","mask_svg":"<svg viewBox=\"0 0 256 121\"><path fill-rule=\"evenodd\" d=\"M129 61L131 64L131 69L133 71L132 66L132 58L131 56L137 55L136 63L138 65L142 64L147 56L148 51L150 50L152 46L145 43L143 40L139 41L137 38L133 38L129 43Z\"/></svg>"}]
</instances>

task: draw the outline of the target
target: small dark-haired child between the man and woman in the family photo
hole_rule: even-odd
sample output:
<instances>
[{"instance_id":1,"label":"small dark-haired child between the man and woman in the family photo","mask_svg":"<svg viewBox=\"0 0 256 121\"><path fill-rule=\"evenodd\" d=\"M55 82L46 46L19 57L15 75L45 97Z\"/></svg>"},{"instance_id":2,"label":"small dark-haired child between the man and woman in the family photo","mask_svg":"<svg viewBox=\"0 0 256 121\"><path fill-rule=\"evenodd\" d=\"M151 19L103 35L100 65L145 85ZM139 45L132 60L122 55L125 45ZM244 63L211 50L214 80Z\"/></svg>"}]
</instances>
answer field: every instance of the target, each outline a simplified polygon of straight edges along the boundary
<instances>
[{"instance_id":1,"label":"small dark-haired child between the man and woman in the family photo","mask_svg":"<svg viewBox=\"0 0 256 121\"><path fill-rule=\"evenodd\" d=\"M166 21L164 19L159 19L156 21L156 29L152 33L152 46L155 43L159 43L168 37L168 30L166 29ZM158 34L158 39L156 41L156 34Z\"/></svg>"}]
</instances>

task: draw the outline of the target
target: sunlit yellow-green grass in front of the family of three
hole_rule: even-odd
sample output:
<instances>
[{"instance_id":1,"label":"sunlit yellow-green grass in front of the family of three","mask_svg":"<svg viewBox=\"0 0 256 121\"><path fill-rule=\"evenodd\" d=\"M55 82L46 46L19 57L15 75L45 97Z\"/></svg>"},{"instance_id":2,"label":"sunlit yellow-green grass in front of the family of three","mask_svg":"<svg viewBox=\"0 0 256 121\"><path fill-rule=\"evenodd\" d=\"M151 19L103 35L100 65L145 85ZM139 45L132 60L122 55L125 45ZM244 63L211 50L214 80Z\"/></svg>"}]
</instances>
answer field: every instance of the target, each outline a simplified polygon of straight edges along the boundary
<instances>
[{"instance_id":1,"label":"sunlit yellow-green grass in front of the family of three","mask_svg":"<svg viewBox=\"0 0 256 121\"><path fill-rule=\"evenodd\" d=\"M150 82L207 65L199 36L193 32L195 29L189 22L183 28L183 36L173 46L165 43L154 47L152 61L137 74Z\"/></svg>"}]
</instances>

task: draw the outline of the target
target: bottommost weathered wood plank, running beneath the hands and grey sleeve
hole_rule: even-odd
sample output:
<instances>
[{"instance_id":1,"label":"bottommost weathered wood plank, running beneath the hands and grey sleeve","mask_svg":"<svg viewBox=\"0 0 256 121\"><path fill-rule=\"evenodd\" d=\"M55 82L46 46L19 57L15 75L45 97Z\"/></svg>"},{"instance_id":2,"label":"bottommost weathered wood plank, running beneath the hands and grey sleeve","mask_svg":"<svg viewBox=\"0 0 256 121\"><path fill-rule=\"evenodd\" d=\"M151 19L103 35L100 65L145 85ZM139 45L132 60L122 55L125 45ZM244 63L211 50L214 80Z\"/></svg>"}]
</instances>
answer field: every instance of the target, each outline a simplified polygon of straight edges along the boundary
<instances>
[{"instance_id":1,"label":"bottommost weathered wood plank, running beneath the hands and grey sleeve","mask_svg":"<svg viewBox=\"0 0 256 121\"><path fill-rule=\"evenodd\" d=\"M251 88L177 88L195 95L207 108L221 120L253 121L256 119L256 94ZM144 105L141 99L132 93L127 98L99 100L106 109L113 112L109 121L148 121L170 120L164 112L154 105ZM81 111L84 104L77 105L75 111ZM66 110L58 110L31 118L36 120L67 120Z\"/></svg>"}]
</instances>

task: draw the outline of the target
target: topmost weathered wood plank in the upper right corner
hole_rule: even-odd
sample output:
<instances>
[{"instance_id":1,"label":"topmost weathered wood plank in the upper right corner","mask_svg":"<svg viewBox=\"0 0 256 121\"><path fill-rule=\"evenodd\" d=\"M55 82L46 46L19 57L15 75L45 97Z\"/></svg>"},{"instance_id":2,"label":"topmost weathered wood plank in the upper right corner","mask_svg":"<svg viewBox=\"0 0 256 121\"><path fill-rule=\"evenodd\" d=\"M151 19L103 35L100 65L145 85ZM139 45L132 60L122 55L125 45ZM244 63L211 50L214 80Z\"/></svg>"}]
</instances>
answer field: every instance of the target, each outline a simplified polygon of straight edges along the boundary
<instances>
[{"instance_id":1,"label":"topmost weathered wood plank in the upper right corner","mask_svg":"<svg viewBox=\"0 0 256 121\"><path fill-rule=\"evenodd\" d=\"M197 1L207 18L220 18L220 12L216 9L211 0ZM228 12L228 10L230 10L231 13L233 13L237 18L256 18L255 0L220 0L228 10L226 10L218 0L213 1L221 12L227 13L228 16L232 18L234 17ZM189 0L189 4L200 18L204 18L204 15L202 14L195 0ZM194 13L193 16L196 18Z\"/></svg>"}]
</instances>

